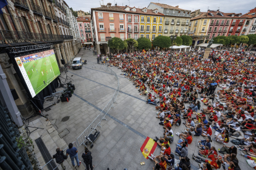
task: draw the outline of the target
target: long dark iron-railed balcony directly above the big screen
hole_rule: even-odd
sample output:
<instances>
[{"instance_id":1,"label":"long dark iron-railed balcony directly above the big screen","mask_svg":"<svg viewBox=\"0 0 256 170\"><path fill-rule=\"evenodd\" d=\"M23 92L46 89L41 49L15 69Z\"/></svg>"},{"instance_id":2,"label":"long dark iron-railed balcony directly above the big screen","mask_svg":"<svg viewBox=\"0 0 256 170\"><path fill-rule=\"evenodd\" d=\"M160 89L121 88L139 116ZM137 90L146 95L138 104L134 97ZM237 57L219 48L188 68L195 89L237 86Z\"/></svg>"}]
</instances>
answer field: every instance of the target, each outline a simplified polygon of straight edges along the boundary
<instances>
[{"instance_id":1,"label":"long dark iron-railed balcony directly above the big screen","mask_svg":"<svg viewBox=\"0 0 256 170\"><path fill-rule=\"evenodd\" d=\"M24 46L42 43L60 43L64 39L73 39L73 36L64 36L58 34L30 33L26 31L0 30L0 47Z\"/></svg>"}]
</instances>

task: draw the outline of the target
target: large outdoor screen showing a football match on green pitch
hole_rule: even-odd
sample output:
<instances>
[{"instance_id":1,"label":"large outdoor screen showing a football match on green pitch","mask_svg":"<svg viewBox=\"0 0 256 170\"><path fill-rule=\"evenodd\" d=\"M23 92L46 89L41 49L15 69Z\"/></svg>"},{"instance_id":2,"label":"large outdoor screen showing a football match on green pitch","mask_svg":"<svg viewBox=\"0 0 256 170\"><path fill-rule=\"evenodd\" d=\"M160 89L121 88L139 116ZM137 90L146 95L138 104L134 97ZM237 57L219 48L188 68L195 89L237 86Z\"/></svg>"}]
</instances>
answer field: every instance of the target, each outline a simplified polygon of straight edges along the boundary
<instances>
[{"instance_id":1,"label":"large outdoor screen showing a football match on green pitch","mask_svg":"<svg viewBox=\"0 0 256 170\"><path fill-rule=\"evenodd\" d=\"M15 58L32 97L60 75L54 51L48 50Z\"/></svg>"}]
</instances>

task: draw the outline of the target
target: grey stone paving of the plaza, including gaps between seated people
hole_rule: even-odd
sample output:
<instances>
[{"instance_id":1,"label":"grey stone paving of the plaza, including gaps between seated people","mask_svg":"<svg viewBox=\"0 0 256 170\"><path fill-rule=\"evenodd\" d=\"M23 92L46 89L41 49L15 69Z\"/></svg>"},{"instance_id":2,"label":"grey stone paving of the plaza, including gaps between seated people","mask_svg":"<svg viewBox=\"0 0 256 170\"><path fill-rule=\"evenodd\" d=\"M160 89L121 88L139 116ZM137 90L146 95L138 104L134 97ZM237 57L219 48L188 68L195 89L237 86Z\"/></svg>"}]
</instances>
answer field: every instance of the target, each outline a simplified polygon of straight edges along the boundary
<instances>
[{"instance_id":1,"label":"grey stone paving of the plaza, including gaps between seated people","mask_svg":"<svg viewBox=\"0 0 256 170\"><path fill-rule=\"evenodd\" d=\"M46 128L46 131L38 129L32 133L31 137L35 140L41 136L51 155L55 153L56 147L64 149L67 144L77 140L77 137L93 119L101 113L101 110L113 97L117 87L115 76L101 69L100 65L96 63L96 55L92 55L92 51L82 49L76 57L82 57L83 60L87 60L88 64L83 65L81 70L69 70L67 73L73 79L72 84L75 84L75 91L70 101L60 102L45 112L50 119L49 124L44 118L32 122L35 126ZM158 124L160 120L155 118L156 110L153 110L155 107L146 103L147 97L139 94L132 82L121 75L121 70L116 67L111 67L111 69L119 77L120 92L114 107L106 115L107 120L101 121L101 127L98 127L101 134L94 143L94 147L90 149L95 169L152 169L153 161L144 158L140 147L147 136L153 139L155 136L163 136L163 126L160 126ZM62 77L66 78L66 75L62 74ZM47 105L49 103L45 103L45 107ZM69 119L62 121L62 118L66 116L69 116ZM182 122L184 122L183 119ZM174 131L174 143L170 147L174 153L179 140L175 133L184 130L184 124L181 126L174 125L172 129ZM213 136L214 132L213 130ZM203 140L203 137L193 137L193 142L188 147L192 169L199 167L198 163L192 160L192 154L198 155L197 143L200 140ZM221 147L221 144L215 141L211 142L211 145L215 146L217 150ZM228 146L231 146L231 142ZM78 150L79 160L82 160L84 146L81 145ZM36 151L38 160L43 166L45 162L35 146ZM154 155L159 153L160 147L156 147ZM246 163L245 158L241 156L239 150L238 153L237 158L241 169L252 169ZM70 164L70 160L67 161ZM140 162L145 162L145 165L141 166ZM67 166L68 169L72 169L72 165ZM61 168L59 167L59 169ZM75 169L85 168L75 167Z\"/></svg>"}]
</instances>

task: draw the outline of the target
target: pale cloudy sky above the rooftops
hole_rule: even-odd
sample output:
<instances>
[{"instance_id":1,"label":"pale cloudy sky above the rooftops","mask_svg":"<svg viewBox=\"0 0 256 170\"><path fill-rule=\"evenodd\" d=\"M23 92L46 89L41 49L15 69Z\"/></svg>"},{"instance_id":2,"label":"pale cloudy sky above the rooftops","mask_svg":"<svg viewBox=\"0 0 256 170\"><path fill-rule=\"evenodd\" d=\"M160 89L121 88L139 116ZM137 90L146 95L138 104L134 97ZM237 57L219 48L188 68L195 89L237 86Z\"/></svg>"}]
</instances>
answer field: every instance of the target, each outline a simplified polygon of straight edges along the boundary
<instances>
[{"instance_id":1,"label":"pale cloudy sky above the rooftops","mask_svg":"<svg viewBox=\"0 0 256 170\"><path fill-rule=\"evenodd\" d=\"M69 7L72 7L74 10L83 10L89 12L91 8L100 7L101 4L107 4L110 2L112 5L117 3L117 6L130 6L130 7L147 7L150 2L159 2L162 4L168 4L170 6L179 6L181 9L186 10L197 10L200 9L201 12L207 12L207 9L217 10L220 9L221 12L229 13L242 13L245 14L250 9L256 7L255 0L183 0L183 1L168 1L168 0L159 0L159 1L145 1L140 0L95 0L95 1L78 1L78 0L65 0Z\"/></svg>"}]
</instances>

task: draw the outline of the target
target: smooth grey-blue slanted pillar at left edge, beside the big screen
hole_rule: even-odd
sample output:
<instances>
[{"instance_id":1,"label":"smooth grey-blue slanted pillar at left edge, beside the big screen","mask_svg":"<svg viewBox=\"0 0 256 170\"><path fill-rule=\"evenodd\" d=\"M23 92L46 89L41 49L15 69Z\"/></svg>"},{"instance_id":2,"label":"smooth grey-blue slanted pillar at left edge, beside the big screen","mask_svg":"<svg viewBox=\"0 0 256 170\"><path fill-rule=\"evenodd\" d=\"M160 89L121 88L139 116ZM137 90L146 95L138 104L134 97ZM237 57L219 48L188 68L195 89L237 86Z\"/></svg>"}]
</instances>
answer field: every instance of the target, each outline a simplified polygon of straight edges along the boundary
<instances>
[{"instance_id":1,"label":"smooth grey-blue slanted pillar at left edge, beside the big screen","mask_svg":"<svg viewBox=\"0 0 256 170\"><path fill-rule=\"evenodd\" d=\"M18 127L23 126L22 118L20 111L17 108L16 103L14 102L14 97L12 97L12 92L6 80L6 74L2 70L0 65L0 100L4 107L7 107L12 119Z\"/></svg>"}]
</instances>

